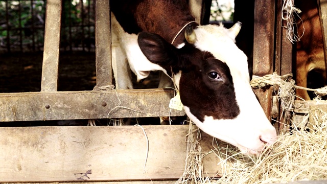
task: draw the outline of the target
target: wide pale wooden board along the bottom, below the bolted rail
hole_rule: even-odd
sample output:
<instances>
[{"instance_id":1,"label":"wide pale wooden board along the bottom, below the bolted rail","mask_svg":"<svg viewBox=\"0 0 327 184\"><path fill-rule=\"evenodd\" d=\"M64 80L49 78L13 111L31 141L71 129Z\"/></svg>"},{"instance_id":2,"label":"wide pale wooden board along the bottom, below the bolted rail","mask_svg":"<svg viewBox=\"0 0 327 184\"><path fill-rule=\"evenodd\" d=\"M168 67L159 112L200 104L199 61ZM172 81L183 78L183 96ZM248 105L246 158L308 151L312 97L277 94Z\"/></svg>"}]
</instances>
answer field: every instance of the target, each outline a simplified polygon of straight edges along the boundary
<instances>
[{"instance_id":1,"label":"wide pale wooden board along the bottom, below the bolted rail","mask_svg":"<svg viewBox=\"0 0 327 184\"><path fill-rule=\"evenodd\" d=\"M2 127L0 182L178 179L189 125L143 128L147 137L139 126ZM201 138L211 151L212 137ZM205 176L216 175L219 162L206 155Z\"/></svg>"}]
</instances>

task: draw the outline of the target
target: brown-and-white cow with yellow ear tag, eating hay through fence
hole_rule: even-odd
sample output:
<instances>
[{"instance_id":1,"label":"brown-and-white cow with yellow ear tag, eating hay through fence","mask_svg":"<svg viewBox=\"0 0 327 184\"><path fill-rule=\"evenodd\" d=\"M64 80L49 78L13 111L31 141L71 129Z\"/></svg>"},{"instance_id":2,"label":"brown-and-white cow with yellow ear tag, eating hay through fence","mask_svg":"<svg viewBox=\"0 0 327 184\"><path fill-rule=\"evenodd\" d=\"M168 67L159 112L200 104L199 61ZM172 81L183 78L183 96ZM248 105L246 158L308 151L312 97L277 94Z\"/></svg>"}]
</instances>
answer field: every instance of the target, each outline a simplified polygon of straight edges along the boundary
<instances>
[{"instance_id":1,"label":"brown-and-white cow with yellow ear tag, eating hay through fence","mask_svg":"<svg viewBox=\"0 0 327 184\"><path fill-rule=\"evenodd\" d=\"M183 1L120 0L110 7L119 47L112 54L125 62L120 72L130 67L142 80L162 71L179 91L188 117L245 154L260 154L275 142L276 130L249 83L247 57L235 44L240 22L230 29L198 25Z\"/></svg>"}]
</instances>

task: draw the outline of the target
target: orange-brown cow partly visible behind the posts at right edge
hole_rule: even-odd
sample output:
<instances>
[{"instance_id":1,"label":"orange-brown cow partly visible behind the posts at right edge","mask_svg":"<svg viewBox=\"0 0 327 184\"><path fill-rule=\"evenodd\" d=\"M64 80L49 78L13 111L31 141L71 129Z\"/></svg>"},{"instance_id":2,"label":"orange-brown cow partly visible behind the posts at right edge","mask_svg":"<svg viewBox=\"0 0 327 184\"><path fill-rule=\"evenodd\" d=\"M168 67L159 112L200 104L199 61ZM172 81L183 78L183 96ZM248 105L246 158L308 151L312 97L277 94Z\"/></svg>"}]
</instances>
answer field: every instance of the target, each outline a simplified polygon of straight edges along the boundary
<instances>
[{"instance_id":1,"label":"orange-brown cow partly visible behind the posts at right edge","mask_svg":"<svg viewBox=\"0 0 327 184\"><path fill-rule=\"evenodd\" d=\"M323 87L327 80L317 1L295 1L294 5L301 10L297 17L297 32L301 37L296 43L296 84ZM303 89L296 89L296 95L304 100L314 97Z\"/></svg>"}]
</instances>

